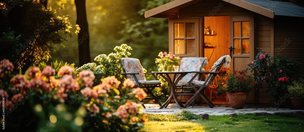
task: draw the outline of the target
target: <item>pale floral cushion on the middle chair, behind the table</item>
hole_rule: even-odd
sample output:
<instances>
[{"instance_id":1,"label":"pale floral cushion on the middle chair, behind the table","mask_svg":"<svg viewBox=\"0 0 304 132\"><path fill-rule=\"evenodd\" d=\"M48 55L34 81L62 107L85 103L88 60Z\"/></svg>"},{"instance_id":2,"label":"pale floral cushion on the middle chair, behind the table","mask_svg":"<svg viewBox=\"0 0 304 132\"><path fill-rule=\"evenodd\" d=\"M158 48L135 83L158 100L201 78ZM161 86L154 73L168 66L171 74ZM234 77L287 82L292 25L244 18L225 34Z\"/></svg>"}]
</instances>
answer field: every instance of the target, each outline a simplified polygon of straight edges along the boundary
<instances>
[{"instance_id":1,"label":"pale floral cushion on the middle chair, behind the table","mask_svg":"<svg viewBox=\"0 0 304 132\"><path fill-rule=\"evenodd\" d=\"M206 57L184 57L181 59L179 71L204 71L203 67L207 65L208 61ZM178 82L178 84L182 83L182 81L188 82L194 75L195 73L187 74L181 79L181 81ZM194 80L199 80L199 76L197 76Z\"/></svg>"}]
</instances>

